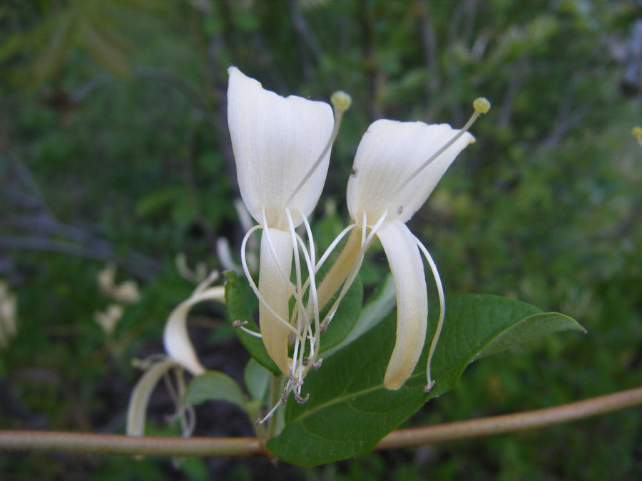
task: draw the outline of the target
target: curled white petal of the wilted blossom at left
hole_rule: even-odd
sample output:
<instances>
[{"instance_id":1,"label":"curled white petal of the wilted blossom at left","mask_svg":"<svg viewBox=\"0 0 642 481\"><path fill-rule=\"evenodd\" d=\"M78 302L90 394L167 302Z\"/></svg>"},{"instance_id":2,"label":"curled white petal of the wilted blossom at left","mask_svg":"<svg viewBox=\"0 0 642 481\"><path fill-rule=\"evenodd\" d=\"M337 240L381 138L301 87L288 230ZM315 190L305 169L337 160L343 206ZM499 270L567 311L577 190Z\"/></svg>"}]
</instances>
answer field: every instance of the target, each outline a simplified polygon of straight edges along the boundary
<instances>
[{"instance_id":1,"label":"curled white petal of the wilted blossom at left","mask_svg":"<svg viewBox=\"0 0 642 481\"><path fill-rule=\"evenodd\" d=\"M170 358L180 363L194 376L205 372L205 368L198 361L194 346L190 341L187 331L187 316L192 306L202 301L224 301L225 288L222 286L210 287L197 291L189 299L178 304L170 314L165 331L163 332L163 343L165 351Z\"/></svg>"}]
</instances>

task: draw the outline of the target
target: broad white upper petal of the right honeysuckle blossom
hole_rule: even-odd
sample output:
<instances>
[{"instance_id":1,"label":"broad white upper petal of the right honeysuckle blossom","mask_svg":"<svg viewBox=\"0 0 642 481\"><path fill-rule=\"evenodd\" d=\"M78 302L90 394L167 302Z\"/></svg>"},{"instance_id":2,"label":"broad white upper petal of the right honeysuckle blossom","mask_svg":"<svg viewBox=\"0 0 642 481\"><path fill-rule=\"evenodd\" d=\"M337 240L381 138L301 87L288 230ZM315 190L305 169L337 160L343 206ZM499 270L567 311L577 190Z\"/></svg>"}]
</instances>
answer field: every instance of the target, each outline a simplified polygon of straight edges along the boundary
<instances>
[{"instance_id":1,"label":"broad white upper petal of the right honeysuckle blossom","mask_svg":"<svg viewBox=\"0 0 642 481\"><path fill-rule=\"evenodd\" d=\"M457 154L474 142L464 133L442 155L394 195L397 187L459 130L448 124L377 120L363 135L347 187L347 205L352 219L360 222L366 212L373 222L387 210L388 219L407 222L422 207Z\"/></svg>"}]
</instances>

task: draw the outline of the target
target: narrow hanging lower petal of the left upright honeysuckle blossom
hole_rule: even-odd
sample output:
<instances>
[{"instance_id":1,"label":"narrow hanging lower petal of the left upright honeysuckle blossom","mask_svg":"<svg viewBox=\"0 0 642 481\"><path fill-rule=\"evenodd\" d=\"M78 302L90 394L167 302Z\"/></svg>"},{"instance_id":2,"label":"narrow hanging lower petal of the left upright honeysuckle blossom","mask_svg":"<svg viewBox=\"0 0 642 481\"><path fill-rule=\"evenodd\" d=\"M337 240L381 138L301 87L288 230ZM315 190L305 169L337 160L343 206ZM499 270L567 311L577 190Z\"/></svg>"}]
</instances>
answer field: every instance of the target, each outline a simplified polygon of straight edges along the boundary
<instances>
[{"instance_id":1,"label":"narrow hanging lower petal of the left upright honeysuckle blossom","mask_svg":"<svg viewBox=\"0 0 642 481\"><path fill-rule=\"evenodd\" d=\"M270 242L268 242L267 235L268 229L263 229L258 288L265 303L270 306L274 314L280 316L281 320L261 303L259 324L267 353L282 373L288 376L290 361L287 357L287 336L290 335L290 329L287 329L283 321L287 321L290 312L288 283L292 271L292 237L290 232L269 229Z\"/></svg>"}]
</instances>

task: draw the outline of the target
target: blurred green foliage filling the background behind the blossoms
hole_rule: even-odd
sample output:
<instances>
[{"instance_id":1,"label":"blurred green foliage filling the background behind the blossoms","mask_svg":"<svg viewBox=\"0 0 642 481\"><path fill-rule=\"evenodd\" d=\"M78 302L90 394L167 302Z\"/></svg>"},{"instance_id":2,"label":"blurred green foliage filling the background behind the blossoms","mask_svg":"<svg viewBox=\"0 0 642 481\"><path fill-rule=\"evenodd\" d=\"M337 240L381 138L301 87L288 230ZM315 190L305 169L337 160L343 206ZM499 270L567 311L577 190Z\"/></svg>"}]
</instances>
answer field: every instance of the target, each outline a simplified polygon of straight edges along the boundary
<instances>
[{"instance_id":1,"label":"blurred green foliage filling the background behind the blossoms","mask_svg":"<svg viewBox=\"0 0 642 481\"><path fill-rule=\"evenodd\" d=\"M514 296L574 316L551 337L474 364L412 424L541 408L642 378L639 90L621 89L638 2L619 0L6 0L0 5L0 277L19 329L0 353L0 427L119 432L166 316L193 286L175 271L238 247L225 122L226 68L287 95L351 93L317 222L345 219L352 156L377 118L462 125L479 95L478 142L412 219L448 293ZM335 206L336 205L336 209ZM327 212L330 217L321 219ZM327 231L327 232L326 232ZM320 237L321 239L321 237ZM118 264L142 300L111 335L96 275ZM363 279L384 269L375 255ZM210 368L240 379L247 355L223 313L198 336ZM203 316L200 316L201 319ZM203 330L200 324L195 329ZM218 329L218 330L217 330ZM220 334L217 334L220 332ZM510 356L510 357L508 357ZM164 396L164 397L163 397ZM151 406L158 433L168 396ZM228 406L200 435L249 435ZM635 479L642 416L626 410L541 432L392 452L298 470L267 460L19 454L3 479Z\"/></svg>"}]
</instances>

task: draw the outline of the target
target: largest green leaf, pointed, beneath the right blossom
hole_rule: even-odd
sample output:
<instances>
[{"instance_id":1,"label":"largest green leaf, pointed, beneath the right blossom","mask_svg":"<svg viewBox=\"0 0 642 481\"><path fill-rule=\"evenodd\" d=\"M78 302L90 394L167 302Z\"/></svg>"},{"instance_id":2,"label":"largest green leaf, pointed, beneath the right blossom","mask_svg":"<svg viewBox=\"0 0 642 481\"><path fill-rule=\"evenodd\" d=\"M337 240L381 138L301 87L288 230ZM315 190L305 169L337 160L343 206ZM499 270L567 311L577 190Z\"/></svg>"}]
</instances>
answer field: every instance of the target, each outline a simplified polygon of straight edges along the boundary
<instances>
[{"instance_id":1,"label":"largest green leaf, pointed, beneath the right blossom","mask_svg":"<svg viewBox=\"0 0 642 481\"><path fill-rule=\"evenodd\" d=\"M434 309L437 311L437 309ZM538 316L539 314L539 316ZM304 405L288 403L285 429L267 441L267 448L282 460L296 465L317 465L345 457L365 454L374 448L384 435L409 418L429 398L448 391L464 368L486 348L499 346L502 337L516 336L511 328L521 324L524 332L528 319L542 324L539 309L524 302L499 296L470 294L448 299L444 329L433 358L432 372L436 385L426 394L426 361L429 341L414 373L398 391L383 386L384 372L395 341L396 315L367 331L346 348L328 358L319 371L311 372L302 394L310 393ZM571 327L561 314L548 316L549 333L553 326ZM434 332L437 312L431 316ZM501 345L508 347L508 341Z\"/></svg>"}]
</instances>

